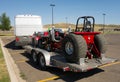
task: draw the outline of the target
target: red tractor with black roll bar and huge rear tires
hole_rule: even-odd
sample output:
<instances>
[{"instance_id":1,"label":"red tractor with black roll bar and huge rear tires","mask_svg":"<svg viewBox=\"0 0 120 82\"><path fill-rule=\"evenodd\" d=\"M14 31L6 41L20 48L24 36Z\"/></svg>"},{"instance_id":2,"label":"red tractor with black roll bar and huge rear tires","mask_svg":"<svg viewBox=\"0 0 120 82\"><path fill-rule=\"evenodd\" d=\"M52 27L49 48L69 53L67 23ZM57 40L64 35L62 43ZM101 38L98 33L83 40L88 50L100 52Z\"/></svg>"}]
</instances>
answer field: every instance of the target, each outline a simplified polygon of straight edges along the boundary
<instances>
[{"instance_id":1,"label":"red tractor with black roll bar and huge rear tires","mask_svg":"<svg viewBox=\"0 0 120 82\"><path fill-rule=\"evenodd\" d=\"M33 47L50 52L63 53L68 62L79 63L80 58L102 58L106 52L106 41L100 32L94 32L95 19L92 16L79 17L74 31L64 33L52 28L34 34Z\"/></svg>"}]
</instances>

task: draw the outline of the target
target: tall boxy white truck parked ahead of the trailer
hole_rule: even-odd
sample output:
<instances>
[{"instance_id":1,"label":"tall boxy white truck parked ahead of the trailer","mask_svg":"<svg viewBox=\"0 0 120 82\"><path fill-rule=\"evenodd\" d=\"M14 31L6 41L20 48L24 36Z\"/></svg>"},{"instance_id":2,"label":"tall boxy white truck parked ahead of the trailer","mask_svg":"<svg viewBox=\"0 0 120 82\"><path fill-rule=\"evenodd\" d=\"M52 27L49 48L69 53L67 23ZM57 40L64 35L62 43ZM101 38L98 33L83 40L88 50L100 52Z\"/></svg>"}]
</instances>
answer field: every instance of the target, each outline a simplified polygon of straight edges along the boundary
<instances>
[{"instance_id":1,"label":"tall boxy white truck parked ahead of the trailer","mask_svg":"<svg viewBox=\"0 0 120 82\"><path fill-rule=\"evenodd\" d=\"M41 16L17 15L15 16L15 46L24 46L31 43L34 32L43 30Z\"/></svg>"}]
</instances>

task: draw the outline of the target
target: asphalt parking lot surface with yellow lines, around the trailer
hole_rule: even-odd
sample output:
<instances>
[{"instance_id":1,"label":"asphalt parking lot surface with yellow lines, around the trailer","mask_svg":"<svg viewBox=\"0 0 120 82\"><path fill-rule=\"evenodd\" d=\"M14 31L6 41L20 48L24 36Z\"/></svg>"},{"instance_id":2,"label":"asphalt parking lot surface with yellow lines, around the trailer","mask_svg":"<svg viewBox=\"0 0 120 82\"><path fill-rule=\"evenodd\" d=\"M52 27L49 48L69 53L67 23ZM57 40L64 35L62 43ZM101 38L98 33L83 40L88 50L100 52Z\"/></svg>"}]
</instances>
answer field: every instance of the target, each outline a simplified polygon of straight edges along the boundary
<instances>
[{"instance_id":1,"label":"asphalt parking lot surface with yellow lines, around the trailer","mask_svg":"<svg viewBox=\"0 0 120 82\"><path fill-rule=\"evenodd\" d=\"M108 41L106 56L120 60L120 34L107 34L105 37ZM26 79L27 82L120 82L119 61L84 73L63 72L53 67L41 71L24 49L14 46L14 36L1 38L21 71L21 78Z\"/></svg>"}]
</instances>

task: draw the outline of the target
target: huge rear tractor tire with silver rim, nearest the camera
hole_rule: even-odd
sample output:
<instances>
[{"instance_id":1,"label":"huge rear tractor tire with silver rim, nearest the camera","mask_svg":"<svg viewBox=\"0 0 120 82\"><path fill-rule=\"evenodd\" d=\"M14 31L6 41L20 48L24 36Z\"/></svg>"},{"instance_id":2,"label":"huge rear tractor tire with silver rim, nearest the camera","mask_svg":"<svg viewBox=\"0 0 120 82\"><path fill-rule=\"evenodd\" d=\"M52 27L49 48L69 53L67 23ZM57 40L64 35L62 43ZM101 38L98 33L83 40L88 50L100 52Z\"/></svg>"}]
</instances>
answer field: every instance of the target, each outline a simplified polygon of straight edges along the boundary
<instances>
[{"instance_id":1,"label":"huge rear tractor tire with silver rim, nearest the camera","mask_svg":"<svg viewBox=\"0 0 120 82\"><path fill-rule=\"evenodd\" d=\"M67 61L78 63L80 58L85 58L87 53L87 44L81 35L68 34L63 39L63 52Z\"/></svg>"}]
</instances>

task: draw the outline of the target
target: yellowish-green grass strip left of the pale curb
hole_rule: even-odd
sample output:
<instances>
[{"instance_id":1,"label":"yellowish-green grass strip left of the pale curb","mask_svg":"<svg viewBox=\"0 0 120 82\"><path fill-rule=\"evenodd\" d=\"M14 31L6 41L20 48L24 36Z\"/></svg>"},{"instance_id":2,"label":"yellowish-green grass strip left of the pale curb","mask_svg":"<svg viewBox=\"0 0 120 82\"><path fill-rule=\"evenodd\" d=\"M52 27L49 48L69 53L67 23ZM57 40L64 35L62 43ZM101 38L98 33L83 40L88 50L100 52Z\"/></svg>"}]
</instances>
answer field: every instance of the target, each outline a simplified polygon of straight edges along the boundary
<instances>
[{"instance_id":1,"label":"yellowish-green grass strip left of the pale curb","mask_svg":"<svg viewBox=\"0 0 120 82\"><path fill-rule=\"evenodd\" d=\"M10 82L5 60L0 45L0 82Z\"/></svg>"}]
</instances>

